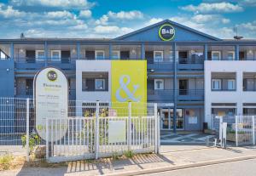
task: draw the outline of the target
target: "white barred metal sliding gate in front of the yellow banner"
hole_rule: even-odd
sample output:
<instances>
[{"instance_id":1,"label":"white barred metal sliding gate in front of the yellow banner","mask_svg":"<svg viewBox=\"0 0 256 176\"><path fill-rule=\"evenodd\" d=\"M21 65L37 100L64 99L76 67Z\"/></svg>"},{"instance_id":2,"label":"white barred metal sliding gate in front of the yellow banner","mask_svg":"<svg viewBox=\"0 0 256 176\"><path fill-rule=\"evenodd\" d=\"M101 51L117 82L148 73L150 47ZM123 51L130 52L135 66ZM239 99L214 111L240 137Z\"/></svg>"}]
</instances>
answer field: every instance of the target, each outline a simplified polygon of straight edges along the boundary
<instances>
[{"instance_id":1,"label":"white barred metal sliding gate in front of the yellow banner","mask_svg":"<svg viewBox=\"0 0 256 176\"><path fill-rule=\"evenodd\" d=\"M147 112L143 113L143 115L151 116L132 116L132 113L142 107L133 106L132 103L129 103L124 110L124 114L128 112L128 116L101 116L100 111L107 106L100 106L97 102L95 116L69 116L66 120L46 118L47 161L66 162L97 159L124 155L125 152L159 152L160 125L156 104L147 105ZM124 106L119 106L119 108L123 109ZM93 109L90 108L90 110ZM92 114L90 111L89 115ZM109 112L108 115L110 115ZM67 124L67 129L61 127L63 124ZM114 127L115 124L121 127ZM121 128L121 133L124 135L123 140L118 140L119 136L115 136L113 133L114 128ZM67 131L64 137L60 137L61 130Z\"/></svg>"}]
</instances>

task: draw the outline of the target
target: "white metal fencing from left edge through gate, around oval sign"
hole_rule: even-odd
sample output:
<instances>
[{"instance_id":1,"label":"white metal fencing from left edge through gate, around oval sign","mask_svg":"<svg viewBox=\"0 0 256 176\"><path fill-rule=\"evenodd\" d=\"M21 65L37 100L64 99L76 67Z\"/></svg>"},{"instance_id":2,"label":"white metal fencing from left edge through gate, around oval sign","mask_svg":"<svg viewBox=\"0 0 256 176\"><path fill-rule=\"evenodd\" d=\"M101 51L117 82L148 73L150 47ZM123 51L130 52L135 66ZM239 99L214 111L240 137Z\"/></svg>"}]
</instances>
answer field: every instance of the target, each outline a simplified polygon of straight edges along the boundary
<instances>
[{"instance_id":1,"label":"white metal fencing from left edge through gate, around oval sign","mask_svg":"<svg viewBox=\"0 0 256 176\"><path fill-rule=\"evenodd\" d=\"M27 160L49 162L159 152L156 104L71 100L67 119L45 117L46 139L38 135L35 121L33 99L0 98L0 150L23 145ZM114 125L122 125L123 139L113 140L119 138Z\"/></svg>"}]
</instances>

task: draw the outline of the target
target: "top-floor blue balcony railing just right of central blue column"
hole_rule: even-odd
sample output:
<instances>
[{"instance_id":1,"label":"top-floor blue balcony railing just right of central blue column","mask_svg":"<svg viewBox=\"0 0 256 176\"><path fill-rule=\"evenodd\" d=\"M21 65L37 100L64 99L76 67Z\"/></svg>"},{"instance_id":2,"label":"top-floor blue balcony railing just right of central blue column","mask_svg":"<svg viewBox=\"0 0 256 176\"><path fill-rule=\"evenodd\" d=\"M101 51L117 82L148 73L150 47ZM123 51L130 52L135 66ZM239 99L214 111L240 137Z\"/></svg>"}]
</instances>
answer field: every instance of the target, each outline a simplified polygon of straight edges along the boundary
<instances>
[{"instance_id":1,"label":"top-floor blue balcony railing just right of central blue column","mask_svg":"<svg viewBox=\"0 0 256 176\"><path fill-rule=\"evenodd\" d=\"M180 71L203 71L204 70L204 60L203 59L188 59L179 58L177 70Z\"/></svg>"}]
</instances>

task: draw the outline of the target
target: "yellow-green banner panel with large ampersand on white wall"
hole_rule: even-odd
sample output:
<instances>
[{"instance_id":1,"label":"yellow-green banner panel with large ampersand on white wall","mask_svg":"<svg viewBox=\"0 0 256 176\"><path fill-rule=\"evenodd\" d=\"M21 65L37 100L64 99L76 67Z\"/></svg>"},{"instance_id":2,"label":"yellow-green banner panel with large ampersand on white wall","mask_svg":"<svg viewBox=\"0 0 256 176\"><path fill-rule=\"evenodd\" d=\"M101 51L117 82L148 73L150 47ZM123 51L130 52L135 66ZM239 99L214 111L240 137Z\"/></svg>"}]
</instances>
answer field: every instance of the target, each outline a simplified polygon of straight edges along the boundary
<instances>
[{"instance_id":1,"label":"yellow-green banner panel with large ampersand on white wall","mask_svg":"<svg viewBox=\"0 0 256 176\"><path fill-rule=\"evenodd\" d=\"M147 112L147 61L113 60L111 62L111 100L117 116L127 116L132 102L132 116Z\"/></svg>"}]
</instances>

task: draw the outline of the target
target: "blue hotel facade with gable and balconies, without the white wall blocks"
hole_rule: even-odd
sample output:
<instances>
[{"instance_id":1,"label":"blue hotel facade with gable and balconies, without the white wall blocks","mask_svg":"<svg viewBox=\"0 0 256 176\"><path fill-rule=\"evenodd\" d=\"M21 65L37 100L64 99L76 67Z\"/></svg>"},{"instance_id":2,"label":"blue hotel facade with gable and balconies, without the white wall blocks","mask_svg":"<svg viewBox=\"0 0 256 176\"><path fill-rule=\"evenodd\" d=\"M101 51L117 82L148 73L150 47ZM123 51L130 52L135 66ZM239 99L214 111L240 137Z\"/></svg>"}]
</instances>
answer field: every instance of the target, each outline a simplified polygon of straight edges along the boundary
<instances>
[{"instance_id":1,"label":"blue hotel facade with gable and balconies, without the white wall blocks","mask_svg":"<svg viewBox=\"0 0 256 176\"><path fill-rule=\"evenodd\" d=\"M166 23L175 28L175 37L168 42L158 35L160 26ZM121 60L125 57L127 60L148 60L148 102L160 103L163 127L166 123L166 129L201 130L204 122L204 60L212 60L214 48L221 48L220 60L227 60L224 56L227 46L234 48L236 60L246 59L240 58L241 47L256 46L256 41L222 40L164 20L113 39L0 39L0 47L1 44L9 46L9 52L5 52L9 59L0 60L0 80L4 82L0 97L32 97L34 75L44 66L52 65L65 72L70 84L69 99L75 99L75 61L96 59L96 50L105 51L105 60L117 59L113 57L113 51L120 48ZM61 52L68 51L69 56L53 60L52 51L56 48ZM44 57L37 60L36 52L40 50L44 50ZM27 57L28 51L34 51L30 53L31 58ZM133 57L134 53L136 56ZM194 57L195 53L198 57ZM157 54L162 54L160 61L155 59ZM164 84L164 88L155 88L157 81ZM174 106L168 106L168 103ZM198 116L195 124L189 123L186 117L191 114Z\"/></svg>"}]
</instances>

